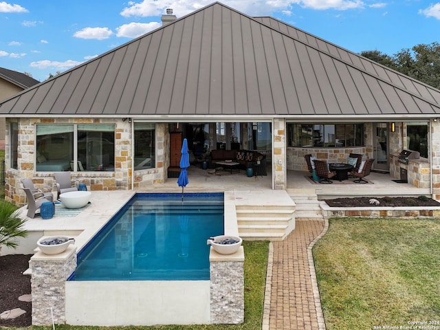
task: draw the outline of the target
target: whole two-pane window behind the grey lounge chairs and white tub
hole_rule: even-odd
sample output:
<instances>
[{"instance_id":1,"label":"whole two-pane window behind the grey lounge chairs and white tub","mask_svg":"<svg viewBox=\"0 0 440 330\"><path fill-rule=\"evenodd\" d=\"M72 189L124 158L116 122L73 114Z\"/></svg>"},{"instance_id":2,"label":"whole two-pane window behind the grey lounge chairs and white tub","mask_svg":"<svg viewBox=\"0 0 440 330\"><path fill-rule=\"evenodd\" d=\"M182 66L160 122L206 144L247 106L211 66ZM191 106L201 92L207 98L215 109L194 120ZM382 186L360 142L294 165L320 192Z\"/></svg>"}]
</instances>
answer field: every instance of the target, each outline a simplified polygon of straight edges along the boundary
<instances>
[{"instance_id":1,"label":"whole two-pane window behind the grey lounge chairs and white tub","mask_svg":"<svg viewBox=\"0 0 440 330\"><path fill-rule=\"evenodd\" d=\"M113 124L38 124L36 170L114 170Z\"/></svg>"}]
</instances>

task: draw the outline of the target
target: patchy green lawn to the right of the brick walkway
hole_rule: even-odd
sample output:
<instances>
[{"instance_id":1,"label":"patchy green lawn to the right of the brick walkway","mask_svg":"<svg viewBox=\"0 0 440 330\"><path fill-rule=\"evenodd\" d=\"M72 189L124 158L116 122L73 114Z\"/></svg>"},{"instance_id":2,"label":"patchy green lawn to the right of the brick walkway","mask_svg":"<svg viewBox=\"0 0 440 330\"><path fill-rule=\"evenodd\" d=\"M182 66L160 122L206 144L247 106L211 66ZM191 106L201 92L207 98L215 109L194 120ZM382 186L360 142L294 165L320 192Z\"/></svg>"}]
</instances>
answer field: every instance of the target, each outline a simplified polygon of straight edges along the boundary
<instances>
[{"instance_id":1,"label":"patchy green lawn to the right of the brick walkway","mask_svg":"<svg viewBox=\"0 0 440 330\"><path fill-rule=\"evenodd\" d=\"M328 330L440 321L440 219L331 219L314 260Z\"/></svg>"}]
</instances>

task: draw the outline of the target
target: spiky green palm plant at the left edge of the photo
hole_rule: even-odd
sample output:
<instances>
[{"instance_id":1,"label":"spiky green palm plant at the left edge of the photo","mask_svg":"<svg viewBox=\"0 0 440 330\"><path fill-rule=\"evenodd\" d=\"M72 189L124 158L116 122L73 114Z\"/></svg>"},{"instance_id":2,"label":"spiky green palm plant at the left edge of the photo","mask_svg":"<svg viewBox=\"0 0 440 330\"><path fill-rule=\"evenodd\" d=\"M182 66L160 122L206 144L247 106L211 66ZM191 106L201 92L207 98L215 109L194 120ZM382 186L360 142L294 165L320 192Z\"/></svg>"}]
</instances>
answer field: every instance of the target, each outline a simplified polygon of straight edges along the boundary
<instances>
[{"instance_id":1,"label":"spiky green palm plant at the left edge of the photo","mask_svg":"<svg viewBox=\"0 0 440 330\"><path fill-rule=\"evenodd\" d=\"M23 229L25 222L14 204L0 200L0 252L2 245L15 249L19 244L17 238L28 236Z\"/></svg>"}]
</instances>

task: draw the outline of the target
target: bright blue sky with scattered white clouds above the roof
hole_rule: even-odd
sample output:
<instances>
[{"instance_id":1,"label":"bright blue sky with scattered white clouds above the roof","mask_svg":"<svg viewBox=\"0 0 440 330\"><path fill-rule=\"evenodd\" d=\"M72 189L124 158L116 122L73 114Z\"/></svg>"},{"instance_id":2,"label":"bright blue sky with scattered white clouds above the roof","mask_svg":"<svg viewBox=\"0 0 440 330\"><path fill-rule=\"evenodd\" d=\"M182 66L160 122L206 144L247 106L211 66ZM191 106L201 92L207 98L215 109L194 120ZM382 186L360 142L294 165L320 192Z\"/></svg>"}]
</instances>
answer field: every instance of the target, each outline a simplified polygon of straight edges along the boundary
<instances>
[{"instance_id":1,"label":"bright blue sky with scattered white clouds above the roof","mask_svg":"<svg viewBox=\"0 0 440 330\"><path fill-rule=\"evenodd\" d=\"M223 0L250 16L272 16L353 52L393 55L440 42L440 2L423 0ZM212 0L0 0L0 67L37 80L63 72Z\"/></svg>"}]
</instances>

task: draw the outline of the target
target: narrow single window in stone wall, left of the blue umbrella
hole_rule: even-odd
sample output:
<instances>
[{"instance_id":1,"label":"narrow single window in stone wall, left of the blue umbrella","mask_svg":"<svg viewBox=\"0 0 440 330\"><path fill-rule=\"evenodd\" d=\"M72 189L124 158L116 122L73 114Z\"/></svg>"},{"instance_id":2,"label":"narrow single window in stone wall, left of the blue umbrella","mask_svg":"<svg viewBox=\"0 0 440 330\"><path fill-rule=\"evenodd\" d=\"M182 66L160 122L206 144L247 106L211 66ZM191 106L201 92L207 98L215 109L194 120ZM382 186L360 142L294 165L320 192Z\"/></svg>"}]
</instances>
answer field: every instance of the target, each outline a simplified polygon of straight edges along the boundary
<instances>
[{"instance_id":1,"label":"narrow single window in stone wall, left of the blue umbrella","mask_svg":"<svg viewBox=\"0 0 440 330\"><path fill-rule=\"evenodd\" d=\"M155 125L135 123L134 168L154 168L155 161Z\"/></svg>"}]
</instances>

